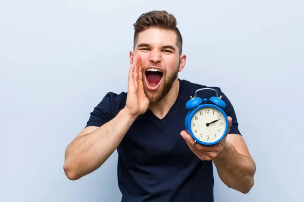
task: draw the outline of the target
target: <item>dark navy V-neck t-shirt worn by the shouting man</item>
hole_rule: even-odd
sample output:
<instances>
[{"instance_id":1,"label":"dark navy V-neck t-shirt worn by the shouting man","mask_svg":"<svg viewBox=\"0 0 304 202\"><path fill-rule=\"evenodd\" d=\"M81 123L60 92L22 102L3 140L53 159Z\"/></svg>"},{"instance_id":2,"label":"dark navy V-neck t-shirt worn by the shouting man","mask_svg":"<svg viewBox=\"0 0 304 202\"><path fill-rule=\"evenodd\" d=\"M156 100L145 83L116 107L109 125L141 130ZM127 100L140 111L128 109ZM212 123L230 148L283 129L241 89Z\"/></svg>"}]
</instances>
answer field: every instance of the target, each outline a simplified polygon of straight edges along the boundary
<instances>
[{"instance_id":1,"label":"dark navy V-neck t-shirt worn by the shouting man","mask_svg":"<svg viewBox=\"0 0 304 202\"><path fill-rule=\"evenodd\" d=\"M138 116L118 151L118 185L126 202L213 202L212 161L200 160L187 146L180 132L189 109L185 104L195 91L206 86L179 79L176 102L160 119L149 109ZM230 133L240 134L234 108L218 87L226 103L224 112L232 117ZM214 91L197 96L210 98ZM100 127L125 107L127 93L109 92L91 112L87 126ZM207 103L211 103L209 100Z\"/></svg>"}]
</instances>

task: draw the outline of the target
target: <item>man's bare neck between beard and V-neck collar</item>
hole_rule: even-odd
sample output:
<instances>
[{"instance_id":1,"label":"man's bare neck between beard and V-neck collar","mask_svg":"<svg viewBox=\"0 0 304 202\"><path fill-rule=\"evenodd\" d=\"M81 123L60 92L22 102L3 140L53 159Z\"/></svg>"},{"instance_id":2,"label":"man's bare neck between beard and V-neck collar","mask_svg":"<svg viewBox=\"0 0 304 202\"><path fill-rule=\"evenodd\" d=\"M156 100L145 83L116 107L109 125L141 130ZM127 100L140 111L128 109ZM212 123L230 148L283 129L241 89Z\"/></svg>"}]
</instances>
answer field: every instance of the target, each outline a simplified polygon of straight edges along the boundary
<instances>
[{"instance_id":1,"label":"man's bare neck between beard and V-neck collar","mask_svg":"<svg viewBox=\"0 0 304 202\"><path fill-rule=\"evenodd\" d=\"M177 99L179 91L179 80L176 78L172 84L172 88L167 95L158 103L149 104L149 109L159 118L166 116L172 105Z\"/></svg>"}]
</instances>

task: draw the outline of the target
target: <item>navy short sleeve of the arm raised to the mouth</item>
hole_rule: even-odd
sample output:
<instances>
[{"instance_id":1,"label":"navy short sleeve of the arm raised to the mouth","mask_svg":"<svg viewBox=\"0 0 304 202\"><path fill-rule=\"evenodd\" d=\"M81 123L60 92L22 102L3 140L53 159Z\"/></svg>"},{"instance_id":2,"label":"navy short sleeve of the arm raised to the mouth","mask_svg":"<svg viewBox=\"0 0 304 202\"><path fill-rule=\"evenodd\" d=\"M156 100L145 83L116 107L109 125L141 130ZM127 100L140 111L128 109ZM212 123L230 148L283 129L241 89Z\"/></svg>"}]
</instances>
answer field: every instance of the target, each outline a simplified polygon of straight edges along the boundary
<instances>
[{"instance_id":1,"label":"navy short sleeve of the arm raised to the mouth","mask_svg":"<svg viewBox=\"0 0 304 202\"><path fill-rule=\"evenodd\" d=\"M107 93L101 102L90 113L86 127L101 127L114 118L126 104L126 93Z\"/></svg>"}]
</instances>

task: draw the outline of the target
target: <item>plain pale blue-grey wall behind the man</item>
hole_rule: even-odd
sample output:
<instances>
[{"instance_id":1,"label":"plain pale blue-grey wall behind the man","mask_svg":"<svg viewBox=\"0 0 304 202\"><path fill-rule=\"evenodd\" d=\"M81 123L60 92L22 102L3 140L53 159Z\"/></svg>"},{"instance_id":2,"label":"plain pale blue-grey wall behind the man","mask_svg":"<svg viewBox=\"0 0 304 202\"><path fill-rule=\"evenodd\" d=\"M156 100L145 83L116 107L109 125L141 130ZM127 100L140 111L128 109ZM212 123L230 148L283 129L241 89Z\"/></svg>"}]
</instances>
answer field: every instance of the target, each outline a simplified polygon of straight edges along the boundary
<instances>
[{"instance_id":1,"label":"plain pale blue-grey wall behind the man","mask_svg":"<svg viewBox=\"0 0 304 202\"><path fill-rule=\"evenodd\" d=\"M120 201L117 153L69 181L64 150L108 91L127 89L133 23L173 13L180 78L231 99L256 162L249 194L215 175L215 201L302 200L302 1L0 2L0 201Z\"/></svg>"}]
</instances>

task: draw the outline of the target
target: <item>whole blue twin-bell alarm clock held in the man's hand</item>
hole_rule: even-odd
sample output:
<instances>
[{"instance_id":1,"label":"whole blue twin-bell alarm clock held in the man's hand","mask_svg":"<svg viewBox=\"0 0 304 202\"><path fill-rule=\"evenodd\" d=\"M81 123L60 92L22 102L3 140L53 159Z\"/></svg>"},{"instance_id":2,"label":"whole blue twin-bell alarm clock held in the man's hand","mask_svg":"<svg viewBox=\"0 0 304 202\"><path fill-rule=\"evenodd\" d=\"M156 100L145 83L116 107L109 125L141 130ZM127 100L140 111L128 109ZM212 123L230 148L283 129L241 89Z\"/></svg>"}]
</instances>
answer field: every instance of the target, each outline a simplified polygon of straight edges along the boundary
<instances>
[{"instance_id":1,"label":"whole blue twin-bell alarm clock held in the man's hand","mask_svg":"<svg viewBox=\"0 0 304 202\"><path fill-rule=\"evenodd\" d=\"M197 97L197 93L202 90L215 91L216 97L209 98L213 104L206 104L207 98L202 100ZM194 97L190 97L186 103L186 108L190 110L185 117L185 130L195 140L194 145L220 143L229 128L227 115L223 111L225 107L226 104L221 96L218 97L217 90L212 88L198 89Z\"/></svg>"}]
</instances>

